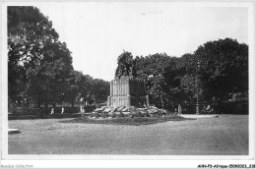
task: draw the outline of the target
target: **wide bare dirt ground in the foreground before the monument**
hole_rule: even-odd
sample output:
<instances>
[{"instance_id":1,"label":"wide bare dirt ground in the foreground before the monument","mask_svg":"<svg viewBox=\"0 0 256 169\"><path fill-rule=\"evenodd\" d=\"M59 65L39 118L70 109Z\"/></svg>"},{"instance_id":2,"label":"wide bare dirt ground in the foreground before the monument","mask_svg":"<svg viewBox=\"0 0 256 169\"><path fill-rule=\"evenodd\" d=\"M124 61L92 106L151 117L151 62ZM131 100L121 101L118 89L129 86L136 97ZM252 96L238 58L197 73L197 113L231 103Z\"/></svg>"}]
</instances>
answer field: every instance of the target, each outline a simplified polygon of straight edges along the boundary
<instances>
[{"instance_id":1,"label":"wide bare dirt ground in the foreground before the monument","mask_svg":"<svg viewBox=\"0 0 256 169\"><path fill-rule=\"evenodd\" d=\"M220 115L154 125L10 120L9 154L247 155L248 116Z\"/></svg>"}]
</instances>

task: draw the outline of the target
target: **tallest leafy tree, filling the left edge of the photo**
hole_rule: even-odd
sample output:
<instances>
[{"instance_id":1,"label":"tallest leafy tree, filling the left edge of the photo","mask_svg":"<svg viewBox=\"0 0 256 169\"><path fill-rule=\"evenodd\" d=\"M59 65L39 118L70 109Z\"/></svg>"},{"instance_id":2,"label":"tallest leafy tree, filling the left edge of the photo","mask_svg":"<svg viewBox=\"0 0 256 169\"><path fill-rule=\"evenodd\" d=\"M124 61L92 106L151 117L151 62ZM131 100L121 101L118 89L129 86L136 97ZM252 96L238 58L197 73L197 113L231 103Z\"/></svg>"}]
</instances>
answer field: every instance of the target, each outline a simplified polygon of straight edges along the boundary
<instances>
[{"instance_id":1,"label":"tallest leafy tree, filling the left edge of the photo","mask_svg":"<svg viewBox=\"0 0 256 169\"><path fill-rule=\"evenodd\" d=\"M30 97L38 106L63 99L71 52L37 8L8 7L8 49L11 99Z\"/></svg>"}]
</instances>

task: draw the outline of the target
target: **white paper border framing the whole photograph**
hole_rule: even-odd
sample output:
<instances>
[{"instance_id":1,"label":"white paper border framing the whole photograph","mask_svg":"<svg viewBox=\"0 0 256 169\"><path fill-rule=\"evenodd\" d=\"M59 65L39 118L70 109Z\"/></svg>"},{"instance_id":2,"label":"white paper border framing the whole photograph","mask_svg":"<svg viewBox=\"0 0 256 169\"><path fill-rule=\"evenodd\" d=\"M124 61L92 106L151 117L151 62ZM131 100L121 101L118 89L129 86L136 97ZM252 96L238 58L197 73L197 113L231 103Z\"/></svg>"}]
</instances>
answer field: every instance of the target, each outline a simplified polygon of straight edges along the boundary
<instances>
[{"instance_id":1,"label":"white paper border framing the whole photograph","mask_svg":"<svg viewBox=\"0 0 256 169\"><path fill-rule=\"evenodd\" d=\"M88 1L2 1L1 2L1 165L32 165L31 168L188 168L198 164L255 164L255 1L162 1L174 6L241 7L248 9L249 45L249 155L14 155L8 154L8 83L7 83L7 7L35 6L38 3L72 3ZM108 2L108 1L93 1ZM125 1L111 1L124 2ZM127 1L126 1L127 2ZM148 1L133 1L145 2ZM157 1L150 1L156 2ZM130 3L130 2L129 2ZM61 161L60 161L61 160ZM30 167L29 167L30 168Z\"/></svg>"}]
</instances>

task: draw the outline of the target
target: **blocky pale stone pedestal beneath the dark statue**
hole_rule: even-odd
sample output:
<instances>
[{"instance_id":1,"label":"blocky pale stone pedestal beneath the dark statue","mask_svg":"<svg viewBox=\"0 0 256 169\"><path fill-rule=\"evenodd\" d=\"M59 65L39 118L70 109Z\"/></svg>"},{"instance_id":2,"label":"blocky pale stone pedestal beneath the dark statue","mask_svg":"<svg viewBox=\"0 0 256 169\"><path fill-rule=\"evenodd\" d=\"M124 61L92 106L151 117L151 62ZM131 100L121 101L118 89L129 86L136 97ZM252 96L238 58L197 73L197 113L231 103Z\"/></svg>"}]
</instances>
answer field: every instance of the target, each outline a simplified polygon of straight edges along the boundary
<instances>
[{"instance_id":1,"label":"blocky pale stone pedestal beneath the dark statue","mask_svg":"<svg viewBox=\"0 0 256 169\"><path fill-rule=\"evenodd\" d=\"M149 105L145 86L142 81L132 77L121 77L110 82L110 95L107 98L108 107Z\"/></svg>"}]
</instances>

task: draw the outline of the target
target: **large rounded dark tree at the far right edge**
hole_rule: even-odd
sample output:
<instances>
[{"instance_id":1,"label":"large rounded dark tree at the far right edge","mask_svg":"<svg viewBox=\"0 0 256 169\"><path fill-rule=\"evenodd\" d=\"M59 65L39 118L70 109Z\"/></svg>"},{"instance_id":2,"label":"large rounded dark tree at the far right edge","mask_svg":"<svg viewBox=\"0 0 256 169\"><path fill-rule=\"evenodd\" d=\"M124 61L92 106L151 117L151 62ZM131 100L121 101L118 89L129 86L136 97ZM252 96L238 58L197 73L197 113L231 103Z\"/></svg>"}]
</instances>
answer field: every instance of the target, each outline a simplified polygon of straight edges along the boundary
<instances>
[{"instance_id":1,"label":"large rounded dark tree at the far right edge","mask_svg":"<svg viewBox=\"0 0 256 169\"><path fill-rule=\"evenodd\" d=\"M248 46L231 38L199 46L200 79L206 97L223 100L228 93L248 90Z\"/></svg>"}]
</instances>

